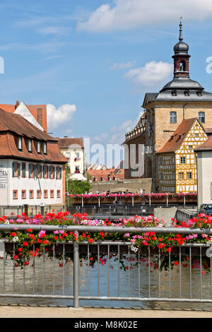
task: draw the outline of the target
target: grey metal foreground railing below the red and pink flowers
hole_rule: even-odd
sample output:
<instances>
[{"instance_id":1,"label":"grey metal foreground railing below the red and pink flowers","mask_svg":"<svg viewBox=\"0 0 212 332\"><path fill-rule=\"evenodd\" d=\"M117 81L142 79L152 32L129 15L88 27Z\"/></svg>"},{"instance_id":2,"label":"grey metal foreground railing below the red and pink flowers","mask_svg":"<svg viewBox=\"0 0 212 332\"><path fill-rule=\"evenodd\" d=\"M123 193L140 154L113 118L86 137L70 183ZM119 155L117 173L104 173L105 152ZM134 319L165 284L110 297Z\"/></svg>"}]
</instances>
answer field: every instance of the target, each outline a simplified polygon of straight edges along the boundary
<instances>
[{"instance_id":1,"label":"grey metal foreground railing below the red and pink flowers","mask_svg":"<svg viewBox=\"0 0 212 332\"><path fill-rule=\"evenodd\" d=\"M25 231L29 225L16 225L18 231ZM1 231L11 231L14 225L0 225ZM65 229L66 232L74 231L77 235L81 232L107 232L107 233L142 233L142 232L155 232L157 234L181 234L181 235L212 235L212 229L188 229L188 228L176 228L176 227L114 227L114 226L86 226L86 225L74 225L62 227L56 225L30 225L33 231L46 230L46 232L52 232L54 230ZM12 245L11 251L14 251L15 244ZM175 250L167 253L163 253L159 248L147 247L146 251L134 252L131 248L131 242L122 241L102 241L94 242L69 242L52 244L52 259L47 261L45 254L45 247L42 252L42 258L35 259L33 257L33 266L23 265L23 270L16 271L16 261L12 260L11 269L8 270L8 249L7 240L1 240L0 251L3 259L1 260L0 268L0 297L12 297L12 298L33 298L33 299L66 299L73 300L73 307L79 306L79 301L131 301L131 302L208 302L212 303L212 258L208 258L211 272L208 274L206 280L203 280L203 260L206 259L206 249L209 247L207 244L186 244L179 247L175 247ZM62 275L57 277L56 274L56 251L60 248L62 262ZM35 252L35 244L32 248ZM73 265L69 264L71 270L69 271L69 294L66 293L66 252L73 253ZM87 264L84 270L83 278L86 278L87 290L86 293L81 294L81 255L83 260ZM107 261L102 265L101 257L105 256ZM110 270L110 258L116 257L117 268L115 271ZM172 255L177 257L179 264L177 264L178 273L175 268L172 268ZM90 258L96 256L97 266L95 270L91 270ZM143 257L146 257L146 266L142 265ZM212 256L212 255L211 255ZM157 258L158 269L151 271L153 261ZM194 273L192 269L192 259L198 257L199 259L199 271ZM163 259L167 261L167 268L164 272L161 270ZM188 266L186 273L182 273L182 262L184 259L188 259ZM41 260L39 263L37 260ZM124 261L125 270L122 263ZM136 265L132 266L132 261L136 261ZM49 272L49 264L51 266ZM37 268L40 266L40 273L38 273L40 291L35 292ZM30 269L30 270L29 270ZM103 273L101 274L101 269ZM30 271L30 277L28 275ZM90 275L92 271L92 276ZM93 274L95 271L95 274ZM17 274L19 273L19 274ZM116 275L114 275L116 273ZM124 274L123 274L124 273ZM153 274L151 274L153 273ZM47 287L47 274L51 275L51 287ZM85 277L86 275L86 277ZM103 284L105 285L105 293L102 294L100 285L102 285L101 278L104 278ZM184 282L182 282L182 277ZM194 279L194 277L196 279ZM48 276L48 278L50 278ZM57 283L56 283L57 279ZM90 287L90 280L95 280L95 284L92 287L97 287L95 295L93 289ZM124 282L124 287L121 284ZM16 283L18 283L18 291L16 291ZM22 287L20 287L22 284ZM26 285L31 285L30 292L27 292ZM61 294L57 294L57 288L61 288ZM22 288L22 291L20 291ZM51 290L50 290L51 288ZM9 291L7 291L9 290ZM197 294L199 292L199 296ZM207 290L207 292L205 292ZM184 295L185 291L185 295ZM71 292L71 294L70 294Z\"/></svg>"}]
</instances>

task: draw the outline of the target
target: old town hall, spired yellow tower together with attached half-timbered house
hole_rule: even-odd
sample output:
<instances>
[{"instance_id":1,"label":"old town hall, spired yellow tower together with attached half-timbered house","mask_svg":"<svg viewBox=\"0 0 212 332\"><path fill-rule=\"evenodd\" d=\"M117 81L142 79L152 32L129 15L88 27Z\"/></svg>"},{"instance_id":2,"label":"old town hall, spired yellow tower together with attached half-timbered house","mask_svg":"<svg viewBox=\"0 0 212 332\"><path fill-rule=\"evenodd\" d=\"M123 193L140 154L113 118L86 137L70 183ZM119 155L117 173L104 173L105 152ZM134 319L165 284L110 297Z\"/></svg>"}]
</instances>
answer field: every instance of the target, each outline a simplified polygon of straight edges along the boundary
<instances>
[{"instance_id":1,"label":"old town hall, spired yellow tower together with attached half-timbered house","mask_svg":"<svg viewBox=\"0 0 212 332\"><path fill-rule=\"evenodd\" d=\"M212 93L206 92L189 76L189 46L183 41L182 23L179 24L179 42L174 52L172 81L159 93L146 93L143 115L136 127L125 134L123 144L127 146L127 153L130 153L131 144L144 144L143 177L152 178L153 191L194 192L194 148L211 134ZM185 166L187 162L190 168ZM167 172L168 168L172 171ZM134 178L130 162L125 178Z\"/></svg>"}]
</instances>

